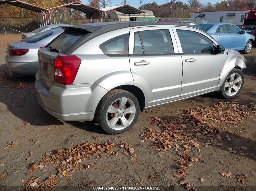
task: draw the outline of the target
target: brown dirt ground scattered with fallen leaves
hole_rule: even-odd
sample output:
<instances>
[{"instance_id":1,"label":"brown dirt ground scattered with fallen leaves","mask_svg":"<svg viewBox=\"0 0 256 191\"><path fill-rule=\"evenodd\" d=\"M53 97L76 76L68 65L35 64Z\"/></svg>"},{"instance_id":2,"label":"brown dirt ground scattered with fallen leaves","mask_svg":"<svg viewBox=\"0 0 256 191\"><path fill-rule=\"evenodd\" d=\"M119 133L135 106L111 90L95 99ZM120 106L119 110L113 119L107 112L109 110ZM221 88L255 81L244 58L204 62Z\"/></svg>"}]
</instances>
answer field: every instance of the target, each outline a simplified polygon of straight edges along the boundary
<instances>
[{"instance_id":1,"label":"brown dirt ground scattered with fallen leaves","mask_svg":"<svg viewBox=\"0 0 256 191\"><path fill-rule=\"evenodd\" d=\"M66 123L40 107L35 78L9 72L5 64L5 44L20 38L0 35L0 190L29 189L22 186L47 181L51 185L58 183L53 190L89 190L93 186L127 190L130 188L122 186L142 186L137 190L146 189L145 186L159 190L256 190L256 48L244 55L244 87L236 99L227 103L218 94L206 94L157 106L140 112L128 132L108 135L91 122ZM225 112L228 115L221 117ZM184 121L176 124L179 120ZM172 132L171 138L164 133L166 129ZM167 139L175 144L166 147ZM91 147L83 145L87 142L93 143L91 147L96 147L98 154L87 154L72 173L58 173L60 153L81 148L89 152ZM96 142L105 146L97 147ZM106 148L106 144L110 146ZM105 150L98 151L100 147ZM45 158L56 154L54 165L43 158L45 153ZM61 161L63 166L72 163L65 160ZM72 169L71 166L65 167Z\"/></svg>"}]
</instances>

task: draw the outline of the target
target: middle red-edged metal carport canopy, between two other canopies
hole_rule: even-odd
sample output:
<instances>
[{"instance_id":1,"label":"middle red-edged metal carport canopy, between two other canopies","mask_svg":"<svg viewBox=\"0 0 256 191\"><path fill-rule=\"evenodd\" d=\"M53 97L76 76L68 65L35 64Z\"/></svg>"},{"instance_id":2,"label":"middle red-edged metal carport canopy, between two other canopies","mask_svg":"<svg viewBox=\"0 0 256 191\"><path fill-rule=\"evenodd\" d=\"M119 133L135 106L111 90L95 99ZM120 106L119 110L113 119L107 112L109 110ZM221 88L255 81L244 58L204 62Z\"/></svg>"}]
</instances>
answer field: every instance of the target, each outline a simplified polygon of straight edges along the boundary
<instances>
[{"instance_id":1,"label":"middle red-edged metal carport canopy, between two other canopies","mask_svg":"<svg viewBox=\"0 0 256 191\"><path fill-rule=\"evenodd\" d=\"M60 5L57 7L50 8L50 9L48 9L48 11L54 10L57 8L61 8L61 7L68 7L68 8L72 8L72 9L84 12L84 13L86 13L87 19L102 18L102 12L104 12L101 9L91 7L90 5L85 5L81 2L72 2L72 3L65 4L65 5Z\"/></svg>"}]
</instances>

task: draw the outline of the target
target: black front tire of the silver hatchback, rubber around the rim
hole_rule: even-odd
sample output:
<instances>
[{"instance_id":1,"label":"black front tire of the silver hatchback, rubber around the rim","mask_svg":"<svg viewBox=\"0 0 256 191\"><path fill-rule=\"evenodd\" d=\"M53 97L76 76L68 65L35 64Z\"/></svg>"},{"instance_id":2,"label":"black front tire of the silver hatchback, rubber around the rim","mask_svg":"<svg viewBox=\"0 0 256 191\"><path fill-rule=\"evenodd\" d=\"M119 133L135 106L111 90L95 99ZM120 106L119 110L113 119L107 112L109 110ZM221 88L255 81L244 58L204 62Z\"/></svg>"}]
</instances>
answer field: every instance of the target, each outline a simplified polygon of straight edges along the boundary
<instances>
[{"instance_id":1,"label":"black front tire of the silver hatchback, rubber around the rim","mask_svg":"<svg viewBox=\"0 0 256 191\"><path fill-rule=\"evenodd\" d=\"M228 78L230 77L231 74L239 74L242 79L241 79L241 84L239 84L239 87L240 87L239 91L237 91L234 95L229 96L229 95L226 93L226 91L228 91L228 90L227 90L228 87L225 88L225 83L226 83L226 81L228 80ZM236 79L236 78L235 78L235 79ZM234 80L235 80L235 79L234 79ZM229 82L227 82L227 83L229 83ZM236 84L238 84L238 83L235 83L234 85L236 85ZM234 98L234 97L236 97L236 96L241 92L241 90L242 90L242 88L243 88L243 85L244 85L244 74L243 74L243 72L242 72L241 70L237 69L237 68L233 68L233 69L229 72L228 76L225 78L225 80L224 80L224 82L223 82L223 84L222 84L222 86L221 86L220 94L221 94L224 98L226 98L226 99ZM234 90L234 89L233 89L233 90ZM232 91L232 88L231 88L231 91Z\"/></svg>"}]
</instances>

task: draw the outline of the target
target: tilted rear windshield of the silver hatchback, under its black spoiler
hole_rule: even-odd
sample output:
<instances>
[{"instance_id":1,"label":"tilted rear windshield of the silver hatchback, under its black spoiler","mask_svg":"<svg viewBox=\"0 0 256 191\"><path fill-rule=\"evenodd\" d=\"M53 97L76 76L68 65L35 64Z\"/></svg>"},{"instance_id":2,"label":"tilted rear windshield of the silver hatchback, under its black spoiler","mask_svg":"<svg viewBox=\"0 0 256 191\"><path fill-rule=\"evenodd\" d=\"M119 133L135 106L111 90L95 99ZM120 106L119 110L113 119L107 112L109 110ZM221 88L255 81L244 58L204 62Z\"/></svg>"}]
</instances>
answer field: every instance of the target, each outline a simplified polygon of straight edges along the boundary
<instances>
[{"instance_id":1,"label":"tilted rear windshield of the silver hatchback, under its black spoiler","mask_svg":"<svg viewBox=\"0 0 256 191\"><path fill-rule=\"evenodd\" d=\"M64 54L71 46L87 34L85 31L66 30L48 45L49 50Z\"/></svg>"}]
</instances>

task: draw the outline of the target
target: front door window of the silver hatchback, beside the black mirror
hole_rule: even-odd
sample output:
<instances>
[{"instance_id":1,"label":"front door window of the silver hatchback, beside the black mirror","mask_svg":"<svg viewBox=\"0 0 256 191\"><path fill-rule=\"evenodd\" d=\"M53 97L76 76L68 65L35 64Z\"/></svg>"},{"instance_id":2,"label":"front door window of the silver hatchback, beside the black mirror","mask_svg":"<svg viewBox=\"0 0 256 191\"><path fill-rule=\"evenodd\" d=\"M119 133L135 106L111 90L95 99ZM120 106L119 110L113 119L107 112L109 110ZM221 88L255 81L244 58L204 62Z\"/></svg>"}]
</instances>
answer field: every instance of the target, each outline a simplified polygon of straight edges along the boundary
<instances>
[{"instance_id":1,"label":"front door window of the silver hatchback, beside the black mirror","mask_svg":"<svg viewBox=\"0 0 256 191\"><path fill-rule=\"evenodd\" d=\"M176 32L183 53L214 53L213 42L203 34L190 30L176 30Z\"/></svg>"}]
</instances>

